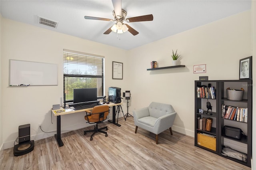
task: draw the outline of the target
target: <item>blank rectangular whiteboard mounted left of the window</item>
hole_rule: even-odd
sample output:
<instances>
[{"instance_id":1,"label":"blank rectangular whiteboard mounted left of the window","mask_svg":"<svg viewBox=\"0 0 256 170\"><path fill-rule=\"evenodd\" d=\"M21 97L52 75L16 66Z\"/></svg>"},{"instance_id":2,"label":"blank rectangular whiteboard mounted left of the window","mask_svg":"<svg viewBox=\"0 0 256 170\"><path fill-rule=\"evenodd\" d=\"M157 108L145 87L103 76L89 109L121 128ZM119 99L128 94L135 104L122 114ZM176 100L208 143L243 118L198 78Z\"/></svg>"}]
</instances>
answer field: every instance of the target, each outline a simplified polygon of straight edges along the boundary
<instances>
[{"instance_id":1,"label":"blank rectangular whiteboard mounted left of the window","mask_svg":"<svg viewBox=\"0 0 256 170\"><path fill-rule=\"evenodd\" d=\"M9 85L58 85L57 64L10 59Z\"/></svg>"}]
</instances>

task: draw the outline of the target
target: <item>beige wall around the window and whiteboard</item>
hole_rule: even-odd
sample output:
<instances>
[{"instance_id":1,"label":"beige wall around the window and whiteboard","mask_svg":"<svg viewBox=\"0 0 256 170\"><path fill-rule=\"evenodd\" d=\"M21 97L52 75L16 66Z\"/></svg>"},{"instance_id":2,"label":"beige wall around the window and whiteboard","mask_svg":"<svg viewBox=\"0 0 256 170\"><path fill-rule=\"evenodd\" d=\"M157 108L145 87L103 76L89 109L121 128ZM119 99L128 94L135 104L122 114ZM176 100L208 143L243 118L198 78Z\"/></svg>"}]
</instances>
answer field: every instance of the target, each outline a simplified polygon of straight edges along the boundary
<instances>
[{"instance_id":1,"label":"beige wall around the window and whiteboard","mask_svg":"<svg viewBox=\"0 0 256 170\"><path fill-rule=\"evenodd\" d=\"M1 35L1 87L2 120L4 129L2 139L4 148L12 147L18 136L18 126L30 123L30 132L34 140L46 138L38 130L42 123L45 131L56 130L56 117L51 120L50 109L53 104L62 104L63 96L63 49L105 56L105 95L108 87L116 86L128 89L127 51L108 45L60 34L54 31L30 26L2 18ZM122 54L122 55L119 55ZM36 61L58 64L57 86L9 87L9 59ZM123 80L112 79L112 61L124 63ZM126 105L124 104L124 107ZM51 123L52 122L52 123ZM86 127L84 113L62 116L62 132Z\"/></svg>"}]
</instances>

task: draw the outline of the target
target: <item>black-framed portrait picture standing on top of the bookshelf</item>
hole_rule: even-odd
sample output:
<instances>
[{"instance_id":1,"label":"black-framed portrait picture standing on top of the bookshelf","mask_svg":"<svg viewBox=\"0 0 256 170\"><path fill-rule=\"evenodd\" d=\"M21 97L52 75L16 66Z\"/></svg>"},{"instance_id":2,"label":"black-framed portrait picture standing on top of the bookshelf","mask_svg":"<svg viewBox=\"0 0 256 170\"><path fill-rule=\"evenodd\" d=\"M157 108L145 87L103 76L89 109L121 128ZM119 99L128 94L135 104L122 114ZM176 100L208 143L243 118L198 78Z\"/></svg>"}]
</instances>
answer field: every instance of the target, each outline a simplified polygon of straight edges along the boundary
<instances>
[{"instance_id":1,"label":"black-framed portrait picture standing on top of the bookshelf","mask_svg":"<svg viewBox=\"0 0 256 170\"><path fill-rule=\"evenodd\" d=\"M252 79L252 56L240 59L239 79Z\"/></svg>"}]
</instances>

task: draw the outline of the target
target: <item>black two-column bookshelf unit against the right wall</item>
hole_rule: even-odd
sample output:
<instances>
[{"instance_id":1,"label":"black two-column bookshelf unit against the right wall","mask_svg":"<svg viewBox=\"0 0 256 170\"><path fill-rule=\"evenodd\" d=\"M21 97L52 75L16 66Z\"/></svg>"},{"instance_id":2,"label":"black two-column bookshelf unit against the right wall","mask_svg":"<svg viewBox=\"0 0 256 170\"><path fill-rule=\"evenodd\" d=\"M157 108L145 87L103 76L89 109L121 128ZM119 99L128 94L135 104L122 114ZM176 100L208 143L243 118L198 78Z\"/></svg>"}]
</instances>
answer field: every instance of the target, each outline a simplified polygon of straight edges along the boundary
<instances>
[{"instance_id":1,"label":"black two-column bookshelf unit against the right wall","mask_svg":"<svg viewBox=\"0 0 256 170\"><path fill-rule=\"evenodd\" d=\"M206 99L206 98L200 98L198 97L198 88L202 85L208 85L211 84L212 86L215 86L216 89L216 99ZM244 96L241 101L237 100L230 100L227 99L227 92L226 89L230 87L231 89L240 89L241 87L244 89ZM205 102L210 101L211 103L216 104L216 111L212 112L212 115L207 115L206 111L204 113L199 113L198 109L202 109L201 107L205 107ZM222 105L230 105L230 106L236 106L241 108L247 108L248 109L248 115L247 115L247 122L242 121L236 121L231 119L225 119L222 117ZM211 132L207 132L204 130L198 129L198 117L212 117L215 120L214 130L211 130ZM241 139L231 138L229 136L225 136L224 134L224 126L232 126L241 128L243 132L245 132L245 135L242 136ZM216 130L216 131L215 131ZM205 132L208 134L215 134L216 135L216 151L213 151L209 148L202 147L197 144L197 133L198 132ZM230 142L232 144L237 144L237 148L232 148L233 146L229 146ZM233 150L238 150L239 152L243 152L240 150L239 145L246 144L247 148L244 153L247 155L246 162L242 160L238 160L236 158L231 158L229 156L224 156L221 154L222 148L224 146L229 146ZM251 167L251 158L252 158L252 80L250 79L242 79L242 80L203 80L203 81L195 81L195 146L199 148L203 148L205 150L208 150L210 152L213 152L215 154L218 154L224 158L233 160L235 162L238 162L240 164L246 165L248 167ZM236 146L234 146L236 147Z\"/></svg>"}]
</instances>

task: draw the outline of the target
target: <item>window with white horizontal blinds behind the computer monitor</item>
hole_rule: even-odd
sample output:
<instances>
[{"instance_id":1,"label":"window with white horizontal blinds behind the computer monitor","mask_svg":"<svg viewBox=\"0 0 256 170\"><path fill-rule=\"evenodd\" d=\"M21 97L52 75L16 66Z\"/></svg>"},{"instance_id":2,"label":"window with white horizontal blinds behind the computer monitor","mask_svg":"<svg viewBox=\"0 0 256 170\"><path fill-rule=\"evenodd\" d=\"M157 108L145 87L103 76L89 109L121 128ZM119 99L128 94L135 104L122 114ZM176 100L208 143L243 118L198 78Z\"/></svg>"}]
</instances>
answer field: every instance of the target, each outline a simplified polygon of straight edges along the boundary
<instances>
[{"instance_id":1,"label":"window with white horizontal blinds behind the computer monitor","mask_svg":"<svg viewBox=\"0 0 256 170\"><path fill-rule=\"evenodd\" d=\"M73 102L73 89L97 88L104 95L104 57L63 50L63 86L66 102Z\"/></svg>"}]
</instances>

